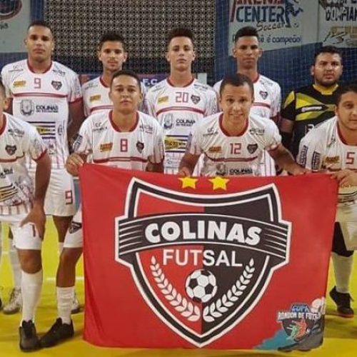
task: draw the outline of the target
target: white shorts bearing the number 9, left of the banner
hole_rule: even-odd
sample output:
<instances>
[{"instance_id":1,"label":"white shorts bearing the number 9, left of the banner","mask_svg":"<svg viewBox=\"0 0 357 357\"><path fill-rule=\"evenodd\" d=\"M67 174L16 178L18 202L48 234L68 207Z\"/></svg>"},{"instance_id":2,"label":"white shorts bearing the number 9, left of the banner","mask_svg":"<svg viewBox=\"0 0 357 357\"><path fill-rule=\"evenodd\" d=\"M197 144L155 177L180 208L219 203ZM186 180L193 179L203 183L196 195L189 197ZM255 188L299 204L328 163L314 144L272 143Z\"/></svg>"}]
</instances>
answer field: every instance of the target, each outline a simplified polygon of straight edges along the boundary
<instances>
[{"instance_id":1,"label":"white shorts bearing the number 9, left of the banner","mask_svg":"<svg viewBox=\"0 0 357 357\"><path fill-rule=\"evenodd\" d=\"M29 171L34 178L34 170ZM73 216L76 212L73 177L66 169L53 169L47 188L44 210L51 216Z\"/></svg>"}]
</instances>

